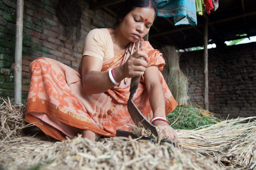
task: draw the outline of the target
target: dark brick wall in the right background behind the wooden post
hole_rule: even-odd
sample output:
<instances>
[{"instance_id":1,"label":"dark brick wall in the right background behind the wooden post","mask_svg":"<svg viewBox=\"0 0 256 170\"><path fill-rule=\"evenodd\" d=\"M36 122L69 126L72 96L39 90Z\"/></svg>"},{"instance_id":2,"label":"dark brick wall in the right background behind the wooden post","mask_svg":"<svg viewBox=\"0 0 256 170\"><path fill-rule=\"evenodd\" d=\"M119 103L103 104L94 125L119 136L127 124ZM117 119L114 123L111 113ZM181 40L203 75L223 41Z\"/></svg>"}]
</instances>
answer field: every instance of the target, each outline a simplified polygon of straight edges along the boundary
<instances>
[{"instance_id":1,"label":"dark brick wall in the right background behind the wooden post","mask_svg":"<svg viewBox=\"0 0 256 170\"><path fill-rule=\"evenodd\" d=\"M256 115L256 43L209 49L209 110L223 117ZM191 103L204 107L203 50L181 54Z\"/></svg>"}]
</instances>

